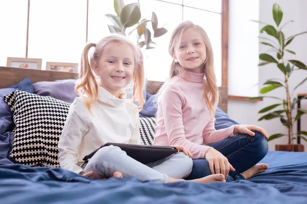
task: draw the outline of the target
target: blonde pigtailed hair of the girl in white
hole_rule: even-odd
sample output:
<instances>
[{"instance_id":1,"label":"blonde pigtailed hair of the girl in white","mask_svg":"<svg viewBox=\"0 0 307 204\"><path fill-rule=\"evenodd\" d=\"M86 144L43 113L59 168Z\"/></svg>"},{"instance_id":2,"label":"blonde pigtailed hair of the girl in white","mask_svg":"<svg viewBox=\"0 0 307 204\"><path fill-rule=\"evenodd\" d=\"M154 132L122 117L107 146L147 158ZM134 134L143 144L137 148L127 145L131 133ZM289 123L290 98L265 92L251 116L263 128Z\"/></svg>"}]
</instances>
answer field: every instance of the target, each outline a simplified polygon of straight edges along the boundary
<instances>
[{"instance_id":1,"label":"blonde pigtailed hair of the girl in white","mask_svg":"<svg viewBox=\"0 0 307 204\"><path fill-rule=\"evenodd\" d=\"M91 62L94 61L98 64L99 59L103 55L103 50L106 45L110 42L119 42L119 43L127 43L130 45L135 52L135 67L133 72L134 82L133 86L133 101L138 101L140 106L137 108L137 111L141 111L144 105L143 99L143 86L144 86L144 63L143 63L143 54L141 52L140 47L135 45L133 42L128 40L126 37L120 34L112 34L106 36L99 40L96 44L89 43L85 45L81 62L78 67L79 79L76 82L75 91L78 95L86 97L85 105L87 109L89 109L90 113L92 113L91 108L93 104L97 102L98 99L98 83L94 74L93 67L91 66ZM91 54L90 62L88 59L89 50L91 47L95 47L94 52ZM81 90L81 91L80 91Z\"/></svg>"}]
</instances>

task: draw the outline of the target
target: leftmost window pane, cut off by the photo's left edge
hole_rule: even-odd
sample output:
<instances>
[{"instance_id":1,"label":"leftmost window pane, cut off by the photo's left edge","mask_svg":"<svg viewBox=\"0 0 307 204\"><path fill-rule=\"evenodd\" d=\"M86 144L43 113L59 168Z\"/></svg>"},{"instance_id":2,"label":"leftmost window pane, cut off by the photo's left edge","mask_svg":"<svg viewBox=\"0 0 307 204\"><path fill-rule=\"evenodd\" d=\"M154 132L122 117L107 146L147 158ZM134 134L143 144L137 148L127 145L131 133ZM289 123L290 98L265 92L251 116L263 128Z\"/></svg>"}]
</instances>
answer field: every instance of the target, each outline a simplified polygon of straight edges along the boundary
<instances>
[{"instance_id":1,"label":"leftmost window pane, cut off by the photo's left edge","mask_svg":"<svg viewBox=\"0 0 307 204\"><path fill-rule=\"evenodd\" d=\"M7 57L26 57L28 1L0 1L0 66Z\"/></svg>"}]
</instances>

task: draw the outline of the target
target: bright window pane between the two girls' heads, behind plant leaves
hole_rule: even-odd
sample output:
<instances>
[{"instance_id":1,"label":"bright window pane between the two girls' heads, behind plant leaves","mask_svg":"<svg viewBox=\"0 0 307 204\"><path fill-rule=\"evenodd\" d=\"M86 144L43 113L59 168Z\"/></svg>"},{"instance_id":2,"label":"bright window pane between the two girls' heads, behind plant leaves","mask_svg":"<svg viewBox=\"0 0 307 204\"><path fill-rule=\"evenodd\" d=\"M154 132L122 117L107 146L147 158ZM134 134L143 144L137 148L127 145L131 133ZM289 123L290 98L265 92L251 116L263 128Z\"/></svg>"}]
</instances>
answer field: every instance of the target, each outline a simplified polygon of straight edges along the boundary
<instances>
[{"instance_id":1,"label":"bright window pane between the two girls' heads, behind plant leaves","mask_svg":"<svg viewBox=\"0 0 307 204\"><path fill-rule=\"evenodd\" d=\"M140 0L142 19L151 19L152 11L157 14L158 28L165 23L164 28L168 30L166 34L158 38L153 38L156 42L154 49L144 51L145 76L152 81L165 81L168 77L168 68L171 57L168 53L168 43L174 28L181 22L182 6L168 4L159 1ZM171 14L169 13L171 11ZM151 33L151 36L153 33Z\"/></svg>"}]
</instances>

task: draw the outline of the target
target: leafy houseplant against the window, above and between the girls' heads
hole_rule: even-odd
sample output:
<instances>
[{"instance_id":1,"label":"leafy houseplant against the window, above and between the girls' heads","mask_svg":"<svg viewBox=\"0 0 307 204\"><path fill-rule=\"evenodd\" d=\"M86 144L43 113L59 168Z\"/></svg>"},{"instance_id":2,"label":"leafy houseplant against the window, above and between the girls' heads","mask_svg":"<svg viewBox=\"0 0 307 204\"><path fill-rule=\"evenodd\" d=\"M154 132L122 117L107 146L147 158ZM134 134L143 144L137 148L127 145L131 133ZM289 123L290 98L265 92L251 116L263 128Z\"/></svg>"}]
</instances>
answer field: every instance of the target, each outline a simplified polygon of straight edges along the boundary
<instances>
[{"instance_id":1,"label":"leafy houseplant against the window, above and between the girls' heads","mask_svg":"<svg viewBox=\"0 0 307 204\"><path fill-rule=\"evenodd\" d=\"M152 41L151 32L148 28L147 23L151 21L153 30L153 38L164 35L167 30L165 28L158 28L157 15L152 12L151 20L141 19L140 3L133 3L125 5L123 0L114 0L114 9L117 15L105 14L114 25L107 25L111 33L122 33L126 34L127 28L130 29L128 36L137 32L137 44L140 47L145 46L146 49L155 48L152 45L156 44Z\"/></svg>"}]
</instances>

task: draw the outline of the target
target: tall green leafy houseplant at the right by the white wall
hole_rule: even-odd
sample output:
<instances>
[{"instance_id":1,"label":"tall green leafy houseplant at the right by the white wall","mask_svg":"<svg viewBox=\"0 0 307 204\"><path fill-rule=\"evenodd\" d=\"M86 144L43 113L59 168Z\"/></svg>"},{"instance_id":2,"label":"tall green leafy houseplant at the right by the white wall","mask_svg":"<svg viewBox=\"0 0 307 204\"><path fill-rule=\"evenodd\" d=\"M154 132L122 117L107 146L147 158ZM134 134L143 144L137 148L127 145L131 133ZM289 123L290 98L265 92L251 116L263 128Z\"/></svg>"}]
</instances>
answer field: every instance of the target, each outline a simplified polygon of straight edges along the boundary
<instances>
[{"instance_id":1,"label":"tall green leafy houseplant at the right by the white wall","mask_svg":"<svg viewBox=\"0 0 307 204\"><path fill-rule=\"evenodd\" d=\"M260 97L252 97L250 99L257 99L257 98L263 98L263 97L269 97L269 98L275 98L278 99L280 102L270 105L264 109L261 109L258 113L266 113L266 115L260 117L258 121L260 120L270 120L273 118L279 118L280 122L287 127L288 129L288 135L277 133L274 135L271 135L268 139L268 141L282 137L282 136L288 136L288 144L293 144L293 140L295 139L295 135L297 137L300 137L301 139L307 141L307 132L300 131L297 134L293 134L293 123L301 117L301 115L306 114L307 110L304 109L298 109L295 108L296 104L300 99L293 97L294 90L301 86L307 78L305 78L303 81L297 84L297 86L292 90L292 94L290 94L289 90L289 80L291 74L296 70L307 70L307 67L305 64L303 64L300 61L297 60L286 60L284 58L284 52L291 53L295 55L295 52L292 50L287 49L287 46L293 41L293 39L301 34L305 34L307 32L298 33L295 35L292 35L288 38L284 37L284 34L282 32L282 29L285 25L287 25L290 22L293 22L293 20L288 21L284 23L281 27L279 27L281 19L282 19L283 13L281 10L281 7L278 4L273 5L273 18L276 23L276 27L273 25L259 22L262 24L266 24L261 30L260 33L263 33L264 31L274 38L267 38L267 37L259 37L261 40L260 43L270 46L270 51L272 51L274 54L270 55L267 53L262 53L259 55L259 59L262 60L262 62L258 66L264 66L269 63L275 63L278 69L283 73L284 78L283 79L270 79L266 81L260 89L260 94L266 94L274 89L277 88L284 88L286 93L286 99L273 97L273 96L260 96ZM301 98L302 99L302 98ZM275 109L277 107L281 107L280 110L275 110L273 112L272 109ZM293 116L293 111L297 110L297 114L295 117ZM269 112L269 113L268 113Z\"/></svg>"}]
</instances>

